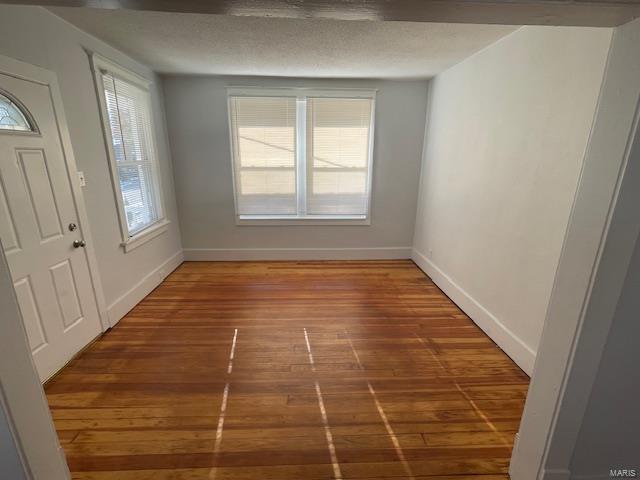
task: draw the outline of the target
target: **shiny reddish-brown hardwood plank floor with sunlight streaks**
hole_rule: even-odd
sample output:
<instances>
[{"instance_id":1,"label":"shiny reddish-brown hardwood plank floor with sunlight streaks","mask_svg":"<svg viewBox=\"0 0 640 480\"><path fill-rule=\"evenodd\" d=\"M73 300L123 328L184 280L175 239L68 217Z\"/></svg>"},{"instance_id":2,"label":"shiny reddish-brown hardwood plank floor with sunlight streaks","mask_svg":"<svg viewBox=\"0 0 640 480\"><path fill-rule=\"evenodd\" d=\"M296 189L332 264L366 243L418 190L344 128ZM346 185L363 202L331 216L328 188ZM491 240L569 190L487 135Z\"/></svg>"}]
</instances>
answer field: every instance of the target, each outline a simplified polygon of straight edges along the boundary
<instances>
[{"instance_id":1,"label":"shiny reddish-brown hardwood plank floor with sunlight streaks","mask_svg":"<svg viewBox=\"0 0 640 480\"><path fill-rule=\"evenodd\" d=\"M74 479L497 480L528 381L408 260L187 262L46 393Z\"/></svg>"}]
</instances>

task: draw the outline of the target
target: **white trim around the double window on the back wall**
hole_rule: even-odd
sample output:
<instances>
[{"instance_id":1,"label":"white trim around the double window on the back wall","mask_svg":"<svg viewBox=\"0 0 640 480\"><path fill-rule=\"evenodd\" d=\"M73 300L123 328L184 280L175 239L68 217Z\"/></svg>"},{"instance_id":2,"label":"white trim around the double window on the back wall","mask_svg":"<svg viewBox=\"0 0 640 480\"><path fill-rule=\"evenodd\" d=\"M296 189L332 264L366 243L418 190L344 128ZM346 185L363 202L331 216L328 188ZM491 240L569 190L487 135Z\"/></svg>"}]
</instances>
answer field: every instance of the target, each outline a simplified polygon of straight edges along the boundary
<instances>
[{"instance_id":1,"label":"white trim around the double window on the back wall","mask_svg":"<svg viewBox=\"0 0 640 480\"><path fill-rule=\"evenodd\" d=\"M371 225L371 197L373 195L373 147L375 137L376 118L376 94L377 89L361 88L306 88L306 87L227 87L227 121L229 124L229 148L231 150L231 175L233 183L233 203L235 209L236 225L251 226L279 226L279 225ZM307 97L328 97L328 98L369 98L371 99L371 123L369 125L369 168L367 171L367 206L365 215L238 215L238 192L236 187L236 161L233 139L232 119L231 119L231 98L232 97L295 97L296 98L296 163L301 165L301 170L306 173L306 138L298 128L297 118L302 118L304 131L306 132L306 110L301 109L301 100ZM302 117L299 117L304 113ZM306 190L306 174L298 175L300 169L296 168L296 189ZM300 178L298 178L300 177ZM306 196L305 196L306 197ZM300 195L298 195L300 199Z\"/></svg>"}]
</instances>

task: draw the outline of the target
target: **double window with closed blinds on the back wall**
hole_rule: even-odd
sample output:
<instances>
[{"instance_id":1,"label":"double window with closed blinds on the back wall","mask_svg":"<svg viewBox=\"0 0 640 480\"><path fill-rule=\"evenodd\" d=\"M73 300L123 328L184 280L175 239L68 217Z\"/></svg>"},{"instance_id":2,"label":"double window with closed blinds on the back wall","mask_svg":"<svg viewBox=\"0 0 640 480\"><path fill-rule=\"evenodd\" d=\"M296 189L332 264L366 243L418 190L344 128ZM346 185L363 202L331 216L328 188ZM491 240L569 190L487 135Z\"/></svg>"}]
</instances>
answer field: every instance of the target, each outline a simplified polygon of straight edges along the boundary
<instances>
[{"instance_id":1,"label":"double window with closed blinds on the back wall","mask_svg":"<svg viewBox=\"0 0 640 480\"><path fill-rule=\"evenodd\" d=\"M229 92L238 217L368 218L374 92L269 93Z\"/></svg>"}]
</instances>

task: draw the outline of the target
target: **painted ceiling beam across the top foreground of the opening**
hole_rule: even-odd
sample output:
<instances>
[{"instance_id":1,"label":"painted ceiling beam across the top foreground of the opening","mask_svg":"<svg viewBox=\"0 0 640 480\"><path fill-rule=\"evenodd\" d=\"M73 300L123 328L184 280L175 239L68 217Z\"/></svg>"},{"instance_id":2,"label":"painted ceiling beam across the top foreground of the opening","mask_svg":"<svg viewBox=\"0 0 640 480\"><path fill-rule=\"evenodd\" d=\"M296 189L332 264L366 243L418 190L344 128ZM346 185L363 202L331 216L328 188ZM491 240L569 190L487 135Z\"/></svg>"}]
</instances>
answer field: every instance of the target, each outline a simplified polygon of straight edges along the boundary
<instances>
[{"instance_id":1,"label":"painted ceiling beam across the top foreground of the opening","mask_svg":"<svg viewBox=\"0 0 640 480\"><path fill-rule=\"evenodd\" d=\"M281 18L612 27L640 0L0 0L0 3Z\"/></svg>"}]
</instances>

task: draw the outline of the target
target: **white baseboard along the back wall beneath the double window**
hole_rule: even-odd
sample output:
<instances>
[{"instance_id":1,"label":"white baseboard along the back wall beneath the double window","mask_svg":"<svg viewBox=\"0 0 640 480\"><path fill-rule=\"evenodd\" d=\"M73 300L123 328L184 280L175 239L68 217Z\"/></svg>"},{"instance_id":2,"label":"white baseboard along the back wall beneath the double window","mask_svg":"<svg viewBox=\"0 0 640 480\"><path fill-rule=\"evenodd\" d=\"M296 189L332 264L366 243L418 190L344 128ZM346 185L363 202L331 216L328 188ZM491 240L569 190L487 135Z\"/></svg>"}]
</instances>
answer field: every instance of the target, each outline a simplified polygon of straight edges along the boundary
<instances>
[{"instance_id":1,"label":"white baseboard along the back wall beneath the double window","mask_svg":"<svg viewBox=\"0 0 640 480\"><path fill-rule=\"evenodd\" d=\"M411 247L374 248L185 248L189 261L391 260L411 258Z\"/></svg>"}]
</instances>

